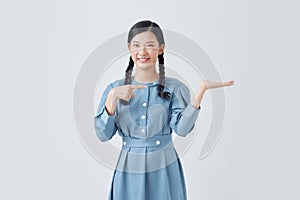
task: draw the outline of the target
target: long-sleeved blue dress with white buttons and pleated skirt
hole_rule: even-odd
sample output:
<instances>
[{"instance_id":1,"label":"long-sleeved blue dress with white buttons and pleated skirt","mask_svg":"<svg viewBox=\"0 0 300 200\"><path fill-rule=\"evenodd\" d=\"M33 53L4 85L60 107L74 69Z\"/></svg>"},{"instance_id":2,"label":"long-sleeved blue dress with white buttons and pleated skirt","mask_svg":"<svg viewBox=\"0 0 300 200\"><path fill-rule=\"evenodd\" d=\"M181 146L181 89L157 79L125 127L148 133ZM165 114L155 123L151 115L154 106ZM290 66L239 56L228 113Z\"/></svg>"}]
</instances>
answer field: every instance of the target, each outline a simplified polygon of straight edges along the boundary
<instances>
[{"instance_id":1,"label":"long-sleeved blue dress with white buttons and pleated skirt","mask_svg":"<svg viewBox=\"0 0 300 200\"><path fill-rule=\"evenodd\" d=\"M193 128L200 106L190 103L188 87L176 78L166 77L164 91L170 99L157 95L158 80L132 85L147 85L134 90L129 105L117 103L108 115L108 92L124 79L107 85L98 105L94 125L101 141L115 133L122 137L122 150L113 173L109 200L186 200L186 185L181 162L172 143L172 132L186 136Z\"/></svg>"}]
</instances>

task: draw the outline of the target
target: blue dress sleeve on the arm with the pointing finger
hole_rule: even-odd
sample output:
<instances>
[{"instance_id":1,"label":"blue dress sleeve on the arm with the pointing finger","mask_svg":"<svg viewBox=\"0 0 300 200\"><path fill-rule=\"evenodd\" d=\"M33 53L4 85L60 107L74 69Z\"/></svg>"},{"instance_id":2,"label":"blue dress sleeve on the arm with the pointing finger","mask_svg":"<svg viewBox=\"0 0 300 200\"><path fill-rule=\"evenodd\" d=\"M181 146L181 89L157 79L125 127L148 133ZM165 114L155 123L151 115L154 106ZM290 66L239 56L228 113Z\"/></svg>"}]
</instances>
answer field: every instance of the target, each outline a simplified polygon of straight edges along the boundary
<instances>
[{"instance_id":1,"label":"blue dress sleeve on the arm with the pointing finger","mask_svg":"<svg viewBox=\"0 0 300 200\"><path fill-rule=\"evenodd\" d=\"M117 131L115 123L116 111L113 115L109 115L105 108L107 94L112 88L112 84L109 84L104 90L98 105L96 116L94 117L96 135L103 142L111 139Z\"/></svg>"}]
</instances>

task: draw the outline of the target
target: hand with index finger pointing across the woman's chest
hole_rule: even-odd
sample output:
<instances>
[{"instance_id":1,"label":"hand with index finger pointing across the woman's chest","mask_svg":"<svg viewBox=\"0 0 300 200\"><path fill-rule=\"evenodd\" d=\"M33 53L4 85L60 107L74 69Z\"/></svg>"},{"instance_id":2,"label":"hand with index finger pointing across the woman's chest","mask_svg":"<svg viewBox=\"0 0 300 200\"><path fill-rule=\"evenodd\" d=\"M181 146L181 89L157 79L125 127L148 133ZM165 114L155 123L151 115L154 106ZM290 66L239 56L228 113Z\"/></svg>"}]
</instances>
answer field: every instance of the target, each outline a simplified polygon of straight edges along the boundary
<instances>
[{"instance_id":1,"label":"hand with index finger pointing across the woman's chest","mask_svg":"<svg viewBox=\"0 0 300 200\"><path fill-rule=\"evenodd\" d=\"M117 100L123 99L125 101L129 101L131 98L134 98L135 89L143 89L146 88L146 85L122 85L112 88L106 98L105 108L109 115L113 115L116 107L117 107Z\"/></svg>"}]
</instances>

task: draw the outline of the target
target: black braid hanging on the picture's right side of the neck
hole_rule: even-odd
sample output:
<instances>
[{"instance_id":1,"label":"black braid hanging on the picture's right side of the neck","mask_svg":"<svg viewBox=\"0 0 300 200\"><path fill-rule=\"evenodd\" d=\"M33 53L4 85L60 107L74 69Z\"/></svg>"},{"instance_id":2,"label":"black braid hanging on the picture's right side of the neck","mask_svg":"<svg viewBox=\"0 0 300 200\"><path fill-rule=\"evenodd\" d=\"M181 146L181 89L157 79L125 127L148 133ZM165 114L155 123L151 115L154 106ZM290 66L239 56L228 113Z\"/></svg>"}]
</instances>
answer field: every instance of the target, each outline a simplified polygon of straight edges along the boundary
<instances>
[{"instance_id":1,"label":"black braid hanging on the picture's right side of the neck","mask_svg":"<svg viewBox=\"0 0 300 200\"><path fill-rule=\"evenodd\" d=\"M165 88L165 66L164 66L164 53L158 55L158 63L159 63L159 80L158 80L158 96L164 99L170 99L170 93L164 92Z\"/></svg>"}]
</instances>

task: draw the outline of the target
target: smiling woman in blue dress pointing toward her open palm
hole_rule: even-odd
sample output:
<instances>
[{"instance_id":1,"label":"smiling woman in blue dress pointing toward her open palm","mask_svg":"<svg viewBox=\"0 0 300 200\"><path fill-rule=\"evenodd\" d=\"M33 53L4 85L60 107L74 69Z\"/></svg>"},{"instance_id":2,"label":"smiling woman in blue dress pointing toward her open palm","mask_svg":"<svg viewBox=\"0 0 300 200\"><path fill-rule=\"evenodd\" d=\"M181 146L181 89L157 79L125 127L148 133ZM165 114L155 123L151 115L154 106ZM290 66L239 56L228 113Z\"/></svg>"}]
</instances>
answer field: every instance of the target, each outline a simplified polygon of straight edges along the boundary
<instances>
[{"instance_id":1,"label":"smiling woman in blue dress pointing toward her open palm","mask_svg":"<svg viewBox=\"0 0 300 200\"><path fill-rule=\"evenodd\" d=\"M184 137L191 132L207 89L233 84L201 81L191 102L188 87L165 76L164 47L156 23L136 23L128 35L130 59L125 79L110 83L102 94L94 118L97 137L108 141L118 131L123 140L109 200L186 200L172 133Z\"/></svg>"}]
</instances>

